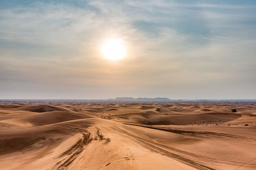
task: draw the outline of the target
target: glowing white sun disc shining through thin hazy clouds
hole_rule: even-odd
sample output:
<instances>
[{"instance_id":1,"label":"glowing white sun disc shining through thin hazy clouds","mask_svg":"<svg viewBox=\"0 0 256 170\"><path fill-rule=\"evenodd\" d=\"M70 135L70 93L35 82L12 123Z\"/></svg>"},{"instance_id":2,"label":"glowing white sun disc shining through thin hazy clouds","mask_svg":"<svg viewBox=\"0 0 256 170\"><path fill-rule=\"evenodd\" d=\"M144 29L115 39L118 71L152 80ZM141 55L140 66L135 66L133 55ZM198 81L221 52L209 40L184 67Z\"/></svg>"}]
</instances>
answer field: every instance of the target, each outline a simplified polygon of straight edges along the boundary
<instances>
[{"instance_id":1,"label":"glowing white sun disc shining through thin hazy clouds","mask_svg":"<svg viewBox=\"0 0 256 170\"><path fill-rule=\"evenodd\" d=\"M122 39L109 39L101 46L102 55L108 60L120 60L125 57L125 46Z\"/></svg>"}]
</instances>

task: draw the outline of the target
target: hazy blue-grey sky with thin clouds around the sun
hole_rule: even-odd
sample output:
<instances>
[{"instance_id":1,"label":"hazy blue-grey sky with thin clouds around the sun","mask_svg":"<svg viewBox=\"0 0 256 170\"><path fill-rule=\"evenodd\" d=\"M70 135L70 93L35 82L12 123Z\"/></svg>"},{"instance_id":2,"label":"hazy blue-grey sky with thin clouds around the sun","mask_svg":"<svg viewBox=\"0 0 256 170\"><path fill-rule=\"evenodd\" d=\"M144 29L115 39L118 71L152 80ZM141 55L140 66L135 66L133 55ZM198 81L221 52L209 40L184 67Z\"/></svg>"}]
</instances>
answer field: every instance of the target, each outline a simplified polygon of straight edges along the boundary
<instances>
[{"instance_id":1,"label":"hazy blue-grey sky with thin clouds around the sun","mask_svg":"<svg viewBox=\"0 0 256 170\"><path fill-rule=\"evenodd\" d=\"M256 1L0 1L0 99L115 97L256 99Z\"/></svg>"}]
</instances>

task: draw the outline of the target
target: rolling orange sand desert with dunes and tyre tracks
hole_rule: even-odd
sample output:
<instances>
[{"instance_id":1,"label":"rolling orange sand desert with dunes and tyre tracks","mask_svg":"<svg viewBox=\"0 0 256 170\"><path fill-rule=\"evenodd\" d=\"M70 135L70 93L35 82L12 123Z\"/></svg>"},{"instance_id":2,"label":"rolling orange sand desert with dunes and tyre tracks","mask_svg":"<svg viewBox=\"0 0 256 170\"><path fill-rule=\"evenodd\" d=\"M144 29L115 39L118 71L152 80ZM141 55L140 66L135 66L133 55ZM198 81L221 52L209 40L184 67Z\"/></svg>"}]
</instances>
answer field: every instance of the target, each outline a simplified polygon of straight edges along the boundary
<instances>
[{"instance_id":1,"label":"rolling orange sand desert with dunes and tyre tracks","mask_svg":"<svg viewBox=\"0 0 256 170\"><path fill-rule=\"evenodd\" d=\"M1 101L0 162L0 169L256 169L256 103Z\"/></svg>"}]
</instances>

